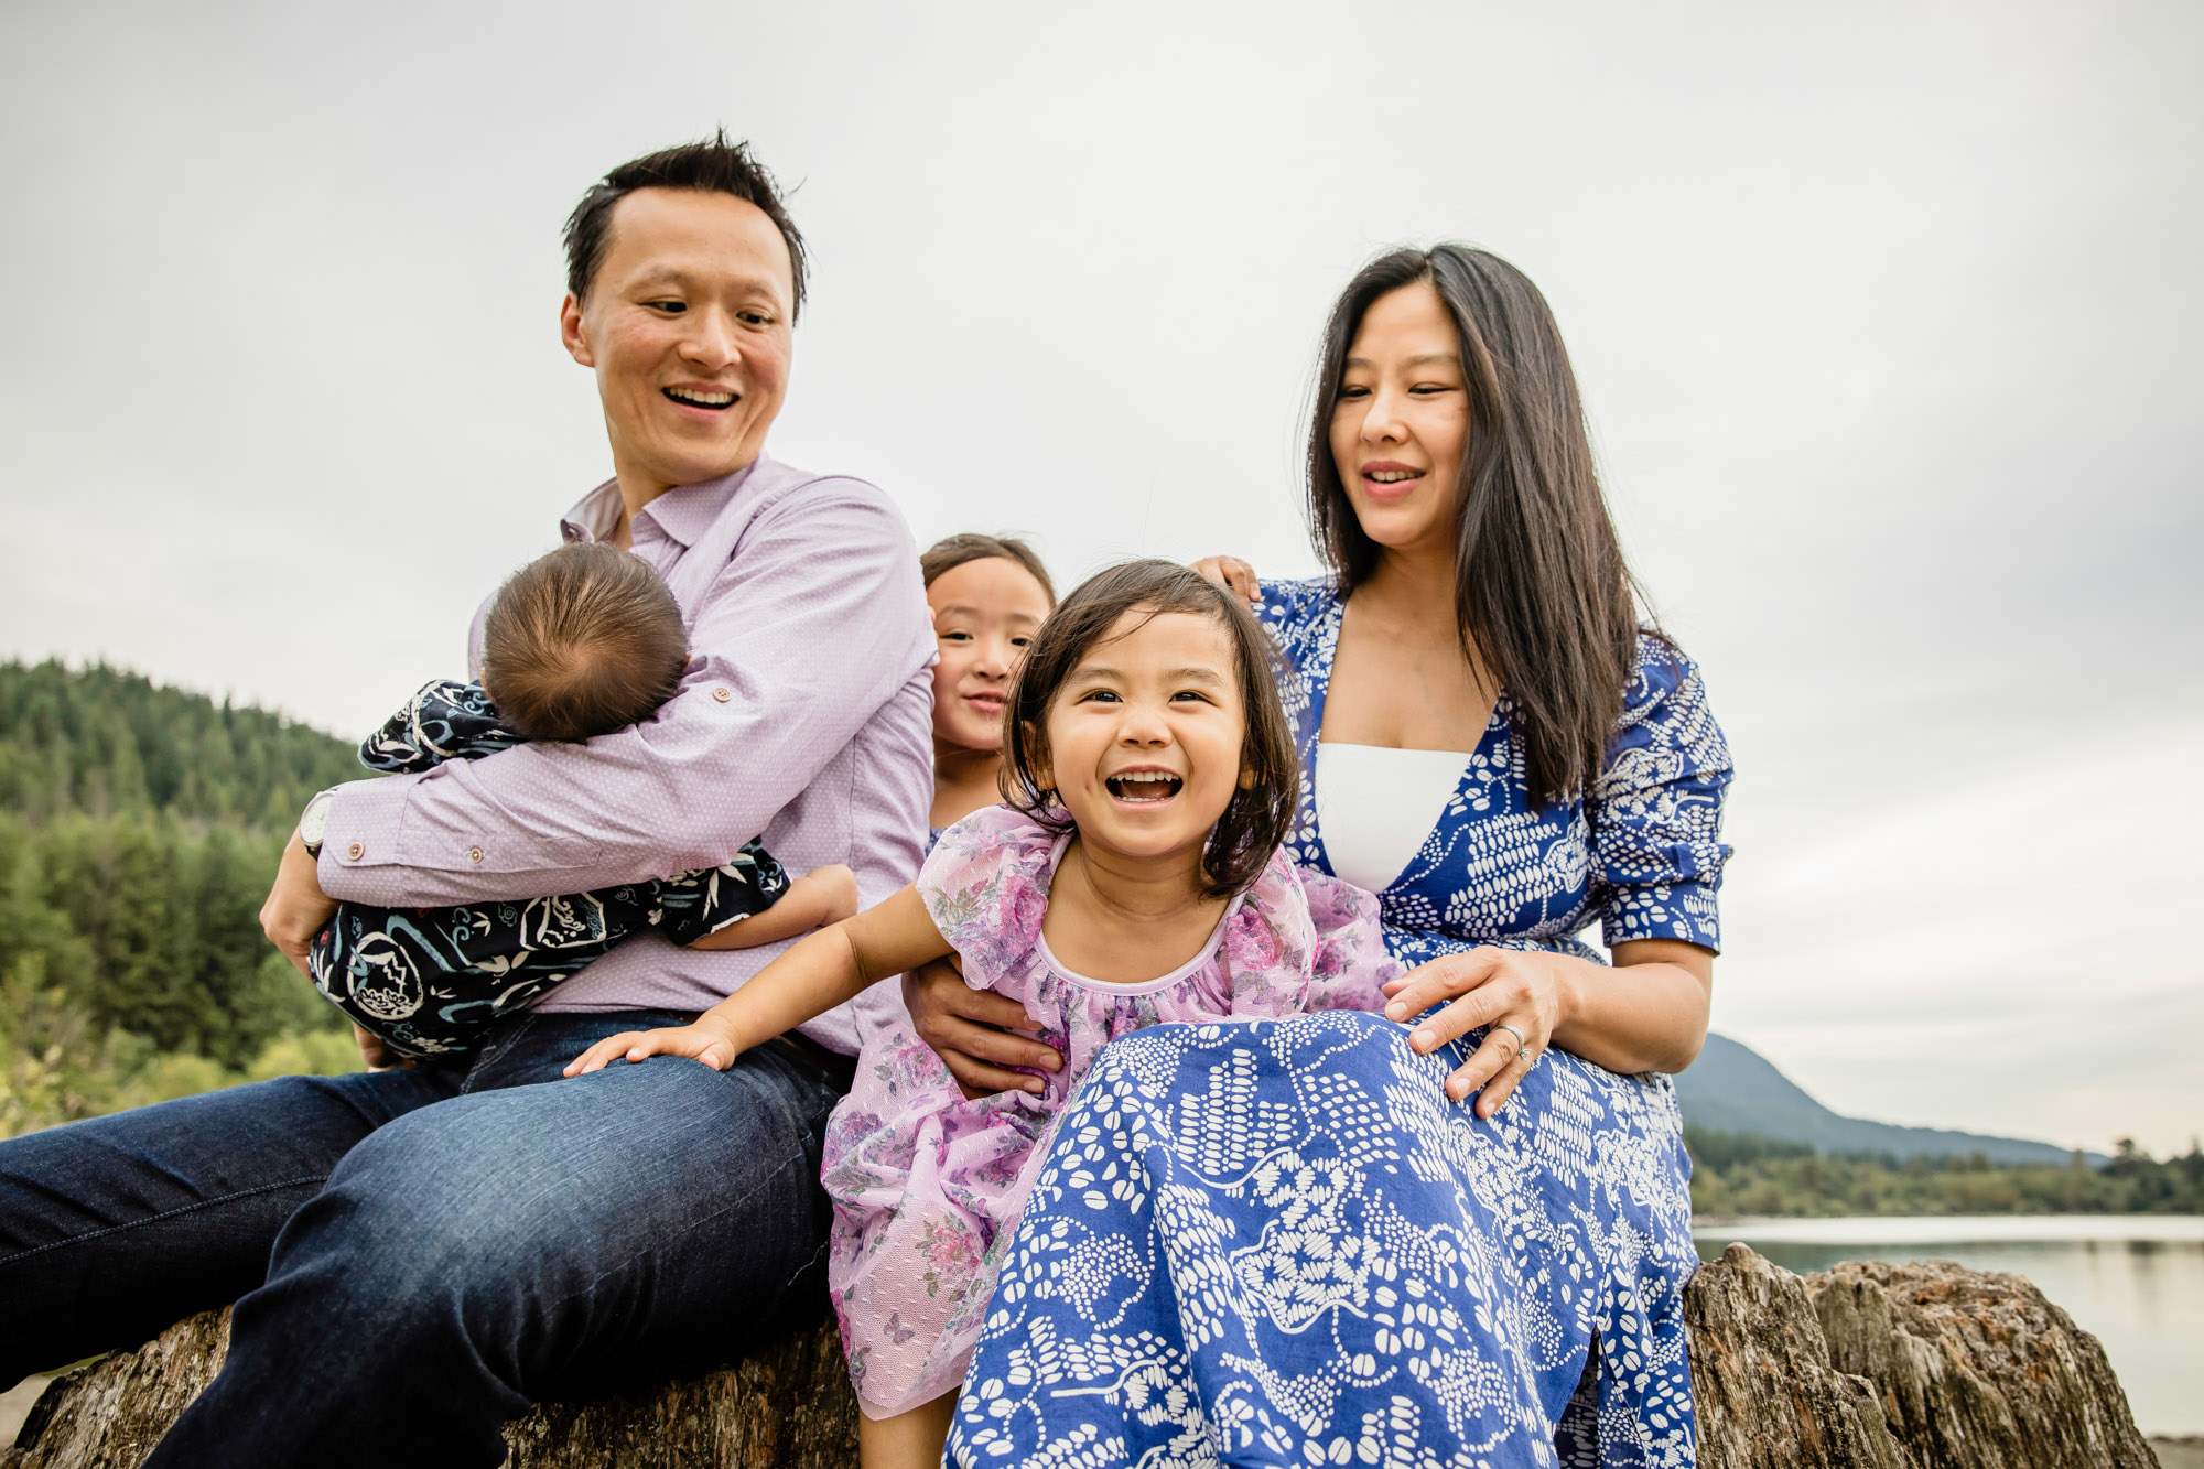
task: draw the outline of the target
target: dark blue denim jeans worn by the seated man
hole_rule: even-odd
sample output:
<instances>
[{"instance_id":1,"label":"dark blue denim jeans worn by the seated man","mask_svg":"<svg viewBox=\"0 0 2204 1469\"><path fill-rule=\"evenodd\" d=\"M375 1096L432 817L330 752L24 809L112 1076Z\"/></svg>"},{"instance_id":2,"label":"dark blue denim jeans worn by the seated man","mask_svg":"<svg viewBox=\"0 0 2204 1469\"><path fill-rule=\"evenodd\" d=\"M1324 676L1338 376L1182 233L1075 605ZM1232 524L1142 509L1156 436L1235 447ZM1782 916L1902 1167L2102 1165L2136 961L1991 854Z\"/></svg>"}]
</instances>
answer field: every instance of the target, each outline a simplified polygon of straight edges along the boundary
<instances>
[{"instance_id":1,"label":"dark blue denim jeans worn by the seated man","mask_svg":"<svg viewBox=\"0 0 2204 1469\"><path fill-rule=\"evenodd\" d=\"M540 1398L727 1361L822 1295L846 1076L763 1046L560 1079L672 1019L518 1015L465 1065L0 1143L0 1383L236 1301L152 1465L498 1465Z\"/></svg>"}]
</instances>

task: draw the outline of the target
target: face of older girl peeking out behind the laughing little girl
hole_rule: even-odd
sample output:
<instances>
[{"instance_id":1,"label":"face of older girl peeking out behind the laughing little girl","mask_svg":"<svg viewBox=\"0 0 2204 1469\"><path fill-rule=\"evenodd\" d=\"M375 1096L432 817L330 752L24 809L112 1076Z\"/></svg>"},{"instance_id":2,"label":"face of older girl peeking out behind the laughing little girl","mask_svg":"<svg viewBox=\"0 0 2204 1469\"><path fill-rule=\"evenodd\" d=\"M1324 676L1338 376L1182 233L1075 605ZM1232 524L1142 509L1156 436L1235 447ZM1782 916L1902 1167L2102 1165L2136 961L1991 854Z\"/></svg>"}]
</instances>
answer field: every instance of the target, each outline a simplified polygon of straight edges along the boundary
<instances>
[{"instance_id":1,"label":"face of older girl peeking out behind the laughing little girl","mask_svg":"<svg viewBox=\"0 0 2204 1469\"><path fill-rule=\"evenodd\" d=\"M941 646L934 739L963 750L1001 750L1009 675L1049 615L1049 593L1018 562L983 556L937 576L926 604Z\"/></svg>"}]
</instances>

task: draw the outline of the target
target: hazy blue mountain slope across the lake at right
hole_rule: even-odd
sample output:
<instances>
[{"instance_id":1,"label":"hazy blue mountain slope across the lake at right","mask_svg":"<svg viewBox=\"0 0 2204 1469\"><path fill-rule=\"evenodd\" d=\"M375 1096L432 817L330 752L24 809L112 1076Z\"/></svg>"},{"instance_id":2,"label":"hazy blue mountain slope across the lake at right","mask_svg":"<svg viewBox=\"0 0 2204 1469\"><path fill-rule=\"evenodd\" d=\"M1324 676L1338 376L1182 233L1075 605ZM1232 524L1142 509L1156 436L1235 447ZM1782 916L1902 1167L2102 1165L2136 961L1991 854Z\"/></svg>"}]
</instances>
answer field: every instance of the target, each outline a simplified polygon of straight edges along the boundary
<instances>
[{"instance_id":1,"label":"hazy blue mountain slope across the lake at right","mask_svg":"<svg viewBox=\"0 0 2204 1469\"><path fill-rule=\"evenodd\" d=\"M1942 1127L1893 1127L1838 1116L1807 1096L1765 1057L1728 1037L1706 1037L1706 1050L1675 1079L1684 1120L1708 1132L1735 1132L1781 1143L1809 1143L1825 1154L1891 1154L1893 1158L1966 1158L1990 1162L2067 1162L2072 1154L2050 1143L1988 1138ZM2105 1162L2089 1154L2089 1162Z\"/></svg>"}]
</instances>

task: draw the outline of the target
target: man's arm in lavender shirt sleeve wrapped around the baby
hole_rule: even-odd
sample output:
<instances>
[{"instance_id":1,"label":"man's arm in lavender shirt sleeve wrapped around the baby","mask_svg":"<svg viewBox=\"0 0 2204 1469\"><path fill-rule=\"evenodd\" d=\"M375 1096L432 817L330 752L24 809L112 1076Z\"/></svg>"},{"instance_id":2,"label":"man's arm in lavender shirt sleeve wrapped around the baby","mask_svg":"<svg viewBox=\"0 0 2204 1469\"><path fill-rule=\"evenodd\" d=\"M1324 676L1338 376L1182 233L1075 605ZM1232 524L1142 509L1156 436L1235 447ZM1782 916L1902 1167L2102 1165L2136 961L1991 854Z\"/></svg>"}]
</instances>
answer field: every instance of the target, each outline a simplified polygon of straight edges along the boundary
<instances>
[{"instance_id":1,"label":"man's arm in lavender shirt sleeve wrapped around the baby","mask_svg":"<svg viewBox=\"0 0 2204 1469\"><path fill-rule=\"evenodd\" d=\"M538 898L714 867L758 836L912 673L917 551L871 485L765 510L655 719L339 787L324 893L377 907Z\"/></svg>"}]
</instances>

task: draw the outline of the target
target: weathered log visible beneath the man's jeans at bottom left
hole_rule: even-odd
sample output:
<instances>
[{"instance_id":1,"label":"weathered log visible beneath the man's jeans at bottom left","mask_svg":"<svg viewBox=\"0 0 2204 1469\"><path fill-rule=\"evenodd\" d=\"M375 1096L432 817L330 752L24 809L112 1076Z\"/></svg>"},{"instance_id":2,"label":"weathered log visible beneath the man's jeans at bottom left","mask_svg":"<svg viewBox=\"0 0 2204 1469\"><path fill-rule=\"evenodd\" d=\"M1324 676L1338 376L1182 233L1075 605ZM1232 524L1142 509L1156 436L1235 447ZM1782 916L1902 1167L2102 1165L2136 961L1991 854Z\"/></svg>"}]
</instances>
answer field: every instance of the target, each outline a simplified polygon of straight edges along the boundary
<instances>
[{"instance_id":1,"label":"weathered log visible beneath the man's jeans at bottom left","mask_svg":"<svg viewBox=\"0 0 2204 1469\"><path fill-rule=\"evenodd\" d=\"M229 1312L209 1310L55 1379L0 1469L137 1469L227 1350ZM505 1443L509 1469L849 1469L857 1398L829 1319L657 1392L544 1403Z\"/></svg>"}]
</instances>

